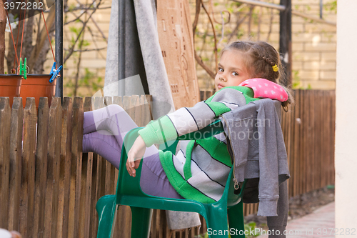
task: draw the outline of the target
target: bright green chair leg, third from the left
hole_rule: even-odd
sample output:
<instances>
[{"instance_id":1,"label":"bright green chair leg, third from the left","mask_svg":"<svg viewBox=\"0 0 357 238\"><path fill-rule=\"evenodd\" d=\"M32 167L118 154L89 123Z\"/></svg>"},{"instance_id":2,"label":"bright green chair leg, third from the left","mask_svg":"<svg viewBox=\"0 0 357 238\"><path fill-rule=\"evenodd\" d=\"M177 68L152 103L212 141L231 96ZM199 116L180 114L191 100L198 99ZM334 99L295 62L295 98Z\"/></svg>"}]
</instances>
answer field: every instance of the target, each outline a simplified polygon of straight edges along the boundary
<instances>
[{"instance_id":1,"label":"bright green chair leg, third from the left","mask_svg":"<svg viewBox=\"0 0 357 238\"><path fill-rule=\"evenodd\" d=\"M206 208L207 233L209 238L228 238L227 209Z\"/></svg>"}]
</instances>

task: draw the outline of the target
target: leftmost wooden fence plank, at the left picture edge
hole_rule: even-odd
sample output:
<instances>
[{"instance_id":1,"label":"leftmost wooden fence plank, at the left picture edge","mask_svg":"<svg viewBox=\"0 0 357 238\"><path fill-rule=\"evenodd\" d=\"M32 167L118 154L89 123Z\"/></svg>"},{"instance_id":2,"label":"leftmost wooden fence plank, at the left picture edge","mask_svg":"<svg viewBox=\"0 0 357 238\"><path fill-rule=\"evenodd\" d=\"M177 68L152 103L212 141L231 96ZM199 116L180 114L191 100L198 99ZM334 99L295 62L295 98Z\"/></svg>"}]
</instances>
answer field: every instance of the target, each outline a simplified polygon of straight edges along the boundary
<instances>
[{"instance_id":1,"label":"leftmost wooden fence plank, at the left picture edge","mask_svg":"<svg viewBox=\"0 0 357 238\"><path fill-rule=\"evenodd\" d=\"M0 97L0 227L9 225L10 119L8 97Z\"/></svg>"}]
</instances>

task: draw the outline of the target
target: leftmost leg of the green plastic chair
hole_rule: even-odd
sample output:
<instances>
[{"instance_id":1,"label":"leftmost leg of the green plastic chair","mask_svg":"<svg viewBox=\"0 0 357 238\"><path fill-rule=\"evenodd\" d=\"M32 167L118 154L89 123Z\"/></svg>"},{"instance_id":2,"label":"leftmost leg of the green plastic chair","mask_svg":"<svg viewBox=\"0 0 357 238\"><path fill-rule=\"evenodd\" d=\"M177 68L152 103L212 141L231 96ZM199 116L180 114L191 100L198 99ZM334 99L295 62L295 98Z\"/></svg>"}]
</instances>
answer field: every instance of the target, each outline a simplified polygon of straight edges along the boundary
<instances>
[{"instance_id":1,"label":"leftmost leg of the green plastic chair","mask_svg":"<svg viewBox=\"0 0 357 238\"><path fill-rule=\"evenodd\" d=\"M115 195L103 196L96 203L96 212L98 212L99 219L97 238L109 238L111 236L115 208Z\"/></svg>"}]
</instances>

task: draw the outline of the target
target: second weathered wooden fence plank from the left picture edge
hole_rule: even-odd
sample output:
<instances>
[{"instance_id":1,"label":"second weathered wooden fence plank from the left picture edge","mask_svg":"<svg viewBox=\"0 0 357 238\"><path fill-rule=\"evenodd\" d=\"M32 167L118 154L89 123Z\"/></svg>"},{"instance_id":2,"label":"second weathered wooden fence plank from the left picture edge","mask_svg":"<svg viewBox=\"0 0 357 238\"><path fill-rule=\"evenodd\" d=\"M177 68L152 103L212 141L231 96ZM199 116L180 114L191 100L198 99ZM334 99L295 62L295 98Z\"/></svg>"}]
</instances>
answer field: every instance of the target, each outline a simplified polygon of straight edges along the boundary
<instances>
[{"instance_id":1,"label":"second weathered wooden fence plank from the left picture edge","mask_svg":"<svg viewBox=\"0 0 357 238\"><path fill-rule=\"evenodd\" d=\"M11 109L10 126L9 230L16 231L19 230L23 119L22 98L15 97Z\"/></svg>"}]
</instances>

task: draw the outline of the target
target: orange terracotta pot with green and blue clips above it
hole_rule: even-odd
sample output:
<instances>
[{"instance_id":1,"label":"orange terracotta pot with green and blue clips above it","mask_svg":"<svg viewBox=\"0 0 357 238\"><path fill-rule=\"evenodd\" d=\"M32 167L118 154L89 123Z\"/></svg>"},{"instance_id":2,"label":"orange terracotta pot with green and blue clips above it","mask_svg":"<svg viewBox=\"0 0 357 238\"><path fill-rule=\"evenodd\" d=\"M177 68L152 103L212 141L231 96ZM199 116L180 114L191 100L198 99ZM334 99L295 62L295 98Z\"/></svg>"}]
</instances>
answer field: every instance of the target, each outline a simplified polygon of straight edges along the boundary
<instances>
[{"instance_id":1,"label":"orange terracotta pot with green and blue clips above it","mask_svg":"<svg viewBox=\"0 0 357 238\"><path fill-rule=\"evenodd\" d=\"M22 79L20 96L24 107L26 106L27 97L34 97L36 107L39 107L41 96L48 97L49 106L51 106L52 96L56 91L56 78L52 83L49 82L49 79L51 79L49 74L28 74L27 79Z\"/></svg>"}]
</instances>

